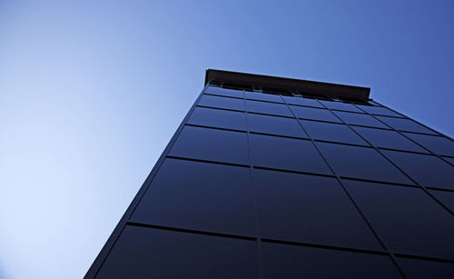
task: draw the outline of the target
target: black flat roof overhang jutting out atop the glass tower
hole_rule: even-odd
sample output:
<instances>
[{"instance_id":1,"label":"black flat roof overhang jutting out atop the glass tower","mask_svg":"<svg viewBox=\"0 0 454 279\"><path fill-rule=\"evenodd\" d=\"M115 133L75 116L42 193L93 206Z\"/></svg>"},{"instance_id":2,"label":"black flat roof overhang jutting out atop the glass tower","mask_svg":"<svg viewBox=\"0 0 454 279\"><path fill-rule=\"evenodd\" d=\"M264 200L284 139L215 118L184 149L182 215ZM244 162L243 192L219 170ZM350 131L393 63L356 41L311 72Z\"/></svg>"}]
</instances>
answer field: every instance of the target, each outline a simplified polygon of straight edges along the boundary
<instances>
[{"instance_id":1,"label":"black flat roof overhang jutting out atop the glass tower","mask_svg":"<svg viewBox=\"0 0 454 279\"><path fill-rule=\"evenodd\" d=\"M287 77L253 75L213 69L206 70L205 85L210 80L218 80L239 86L261 85L263 89L275 91L296 89L302 95L336 95L360 101L368 100L370 95L370 88L368 87L338 85Z\"/></svg>"}]
</instances>

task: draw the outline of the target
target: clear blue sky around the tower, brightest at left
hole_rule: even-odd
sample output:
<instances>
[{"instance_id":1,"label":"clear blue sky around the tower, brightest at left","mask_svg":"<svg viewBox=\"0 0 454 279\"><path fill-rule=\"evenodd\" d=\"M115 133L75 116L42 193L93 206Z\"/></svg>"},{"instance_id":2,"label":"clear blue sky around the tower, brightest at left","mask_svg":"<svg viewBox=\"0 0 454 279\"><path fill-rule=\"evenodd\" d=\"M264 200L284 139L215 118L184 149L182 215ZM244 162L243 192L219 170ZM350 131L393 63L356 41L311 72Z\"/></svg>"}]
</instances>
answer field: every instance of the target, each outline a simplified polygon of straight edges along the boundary
<instances>
[{"instance_id":1,"label":"clear blue sky around the tower, brightest at left","mask_svg":"<svg viewBox=\"0 0 454 279\"><path fill-rule=\"evenodd\" d=\"M0 278L80 278L207 68L371 87L454 135L452 1L0 2Z\"/></svg>"}]
</instances>

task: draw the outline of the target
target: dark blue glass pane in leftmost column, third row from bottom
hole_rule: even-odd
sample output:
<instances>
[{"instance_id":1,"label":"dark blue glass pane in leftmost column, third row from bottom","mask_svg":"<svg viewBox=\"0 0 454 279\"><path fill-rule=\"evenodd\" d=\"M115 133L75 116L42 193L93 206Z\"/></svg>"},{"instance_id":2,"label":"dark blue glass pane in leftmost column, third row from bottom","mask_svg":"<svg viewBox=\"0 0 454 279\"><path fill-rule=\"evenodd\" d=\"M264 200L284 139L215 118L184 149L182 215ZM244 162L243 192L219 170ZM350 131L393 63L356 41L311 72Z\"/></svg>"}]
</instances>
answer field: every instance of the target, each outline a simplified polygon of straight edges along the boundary
<instances>
[{"instance_id":1,"label":"dark blue glass pane in leftmost column, third row from bottom","mask_svg":"<svg viewBox=\"0 0 454 279\"><path fill-rule=\"evenodd\" d=\"M208 161L249 164L247 134L185 126L170 155Z\"/></svg>"}]
</instances>

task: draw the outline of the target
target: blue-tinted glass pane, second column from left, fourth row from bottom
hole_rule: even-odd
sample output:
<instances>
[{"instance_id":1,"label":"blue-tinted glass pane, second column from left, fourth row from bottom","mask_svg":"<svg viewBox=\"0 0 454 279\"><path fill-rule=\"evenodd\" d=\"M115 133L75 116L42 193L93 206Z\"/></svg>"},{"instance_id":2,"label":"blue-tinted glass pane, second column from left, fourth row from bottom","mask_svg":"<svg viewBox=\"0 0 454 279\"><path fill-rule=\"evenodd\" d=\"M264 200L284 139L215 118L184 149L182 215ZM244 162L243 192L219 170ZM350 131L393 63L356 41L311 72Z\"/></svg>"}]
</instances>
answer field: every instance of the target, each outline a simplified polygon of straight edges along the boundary
<instances>
[{"instance_id":1,"label":"blue-tinted glass pane, second column from left, fourth row from bottom","mask_svg":"<svg viewBox=\"0 0 454 279\"><path fill-rule=\"evenodd\" d=\"M248 114L247 117L248 128L252 132L307 138L296 118L254 114Z\"/></svg>"}]
</instances>

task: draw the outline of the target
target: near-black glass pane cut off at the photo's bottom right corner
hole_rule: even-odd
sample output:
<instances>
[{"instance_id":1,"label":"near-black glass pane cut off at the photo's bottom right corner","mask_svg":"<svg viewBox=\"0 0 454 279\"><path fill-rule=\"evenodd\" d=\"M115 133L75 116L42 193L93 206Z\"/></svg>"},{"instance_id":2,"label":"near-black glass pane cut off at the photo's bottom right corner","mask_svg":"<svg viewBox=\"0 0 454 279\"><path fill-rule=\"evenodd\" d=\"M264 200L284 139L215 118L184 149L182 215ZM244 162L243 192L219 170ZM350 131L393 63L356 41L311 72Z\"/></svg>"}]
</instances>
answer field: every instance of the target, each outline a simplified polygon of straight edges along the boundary
<instances>
[{"instance_id":1,"label":"near-black glass pane cut off at the photo's bottom right corner","mask_svg":"<svg viewBox=\"0 0 454 279\"><path fill-rule=\"evenodd\" d=\"M454 278L454 264L398 257L398 263L410 278Z\"/></svg>"}]
</instances>

